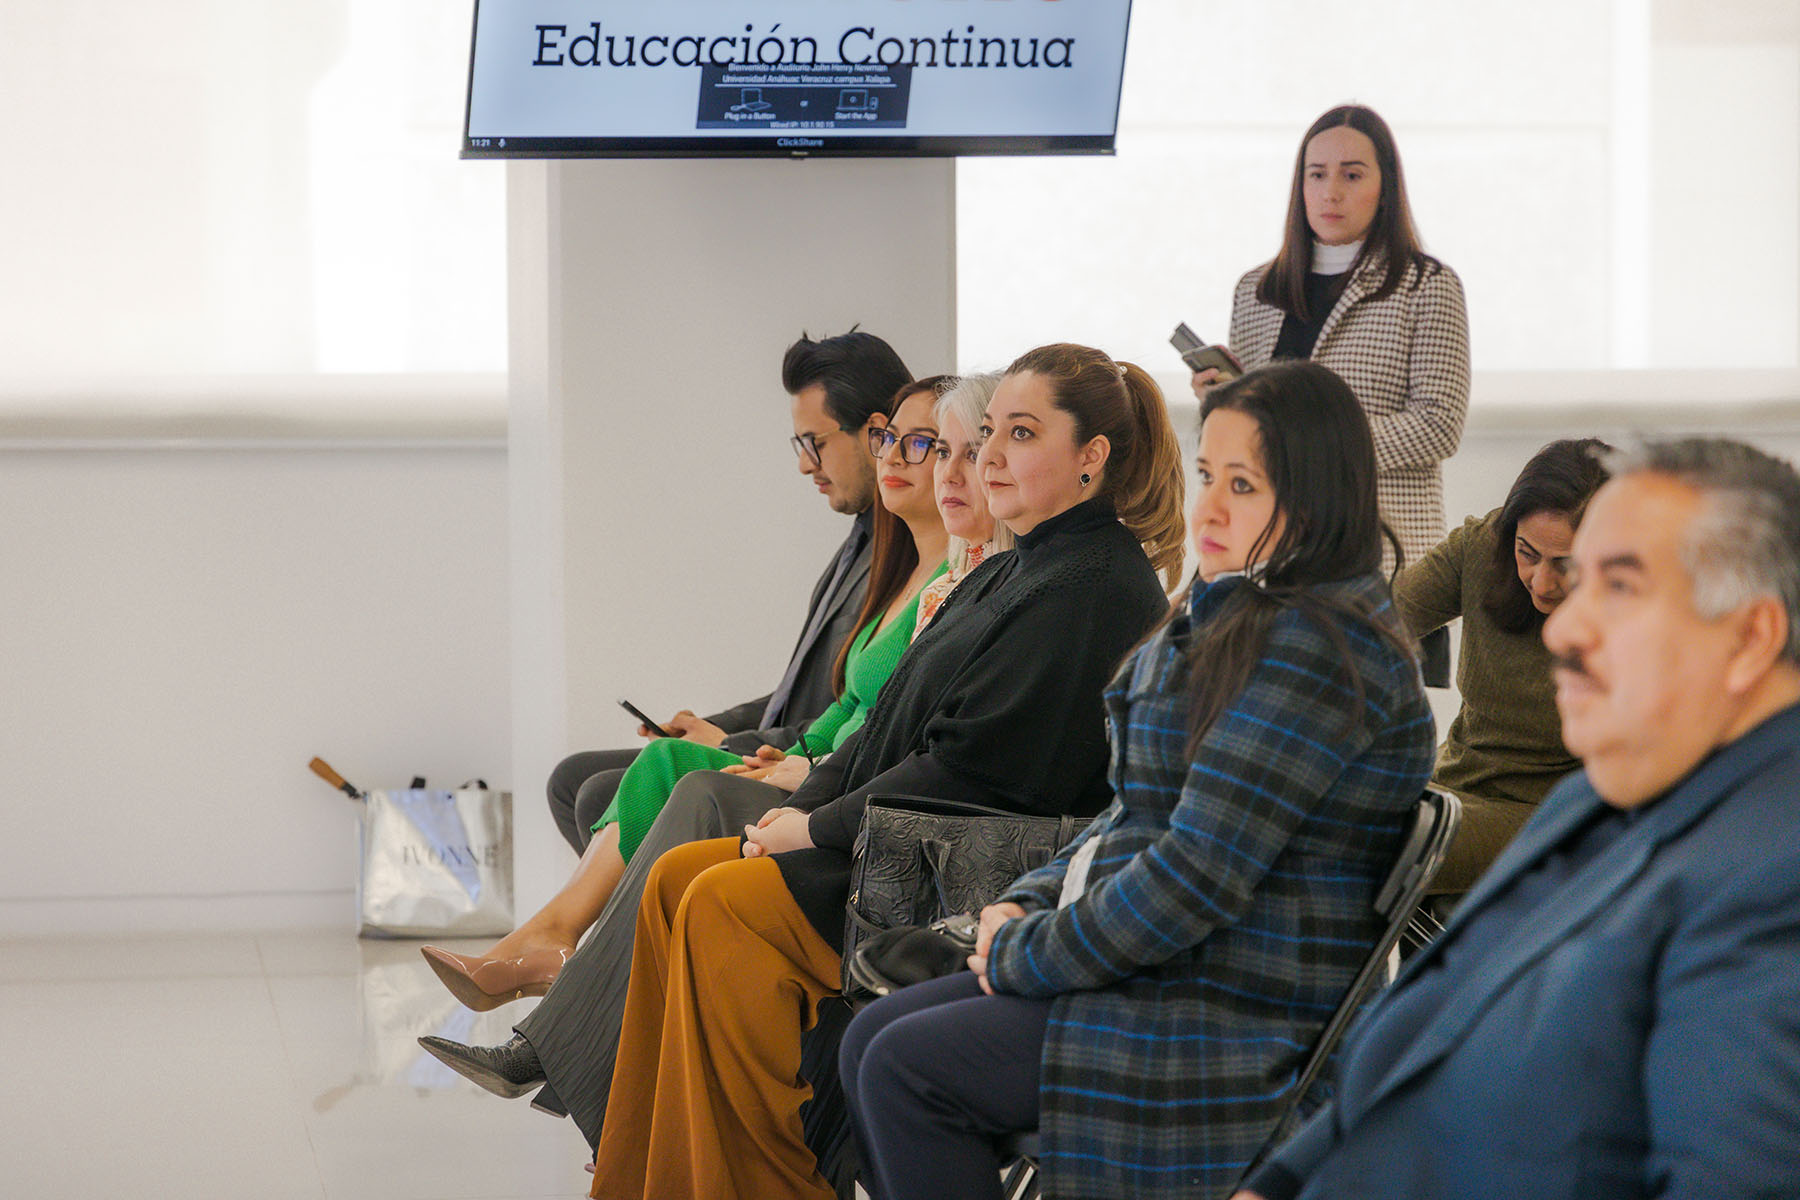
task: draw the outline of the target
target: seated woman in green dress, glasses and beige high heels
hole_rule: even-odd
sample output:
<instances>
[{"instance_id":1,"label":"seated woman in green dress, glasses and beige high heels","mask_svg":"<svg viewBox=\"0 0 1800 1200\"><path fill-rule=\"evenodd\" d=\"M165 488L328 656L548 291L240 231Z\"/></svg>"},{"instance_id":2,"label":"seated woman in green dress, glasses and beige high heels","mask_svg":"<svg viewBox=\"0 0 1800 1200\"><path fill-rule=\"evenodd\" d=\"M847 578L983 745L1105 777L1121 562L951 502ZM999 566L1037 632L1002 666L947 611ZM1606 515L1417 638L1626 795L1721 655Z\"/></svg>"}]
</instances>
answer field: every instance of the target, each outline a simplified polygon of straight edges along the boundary
<instances>
[{"instance_id":1,"label":"seated woman in green dress, glasses and beige high heels","mask_svg":"<svg viewBox=\"0 0 1800 1200\"><path fill-rule=\"evenodd\" d=\"M657 738L646 745L619 781L612 806L594 826L594 838L574 874L549 903L484 955L421 948L455 999L486 1011L549 991L581 934L607 907L625 864L682 775L738 765L792 792L806 777L812 759L830 754L860 729L913 640L920 592L945 570L949 533L938 516L932 471L938 389L947 383L950 376L909 383L895 396L887 421L869 428L880 491L869 588L857 617L857 635L837 655L837 700L832 707L806 727L787 754L765 747L754 759L745 759L682 738Z\"/></svg>"}]
</instances>

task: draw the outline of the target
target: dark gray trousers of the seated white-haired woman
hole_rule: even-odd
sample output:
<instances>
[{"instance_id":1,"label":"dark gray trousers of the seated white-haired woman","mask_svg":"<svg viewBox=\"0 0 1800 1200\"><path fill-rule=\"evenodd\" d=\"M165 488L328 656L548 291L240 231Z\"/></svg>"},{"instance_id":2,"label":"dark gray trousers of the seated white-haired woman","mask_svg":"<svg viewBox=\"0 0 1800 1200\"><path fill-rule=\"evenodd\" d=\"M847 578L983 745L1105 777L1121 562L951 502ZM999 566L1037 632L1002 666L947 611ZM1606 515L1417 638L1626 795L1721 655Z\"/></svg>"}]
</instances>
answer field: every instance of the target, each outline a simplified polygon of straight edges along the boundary
<instances>
[{"instance_id":1,"label":"dark gray trousers of the seated white-haired woman","mask_svg":"<svg viewBox=\"0 0 1800 1200\"><path fill-rule=\"evenodd\" d=\"M715 770L684 775L626 864L594 928L563 963L549 995L517 1025L589 1146L599 1146L599 1128L607 1119L612 1063L619 1056L619 1024L625 1020L625 984L632 975L637 937L637 903L650 867L675 846L740 835L743 826L787 799L787 792L742 775Z\"/></svg>"}]
</instances>

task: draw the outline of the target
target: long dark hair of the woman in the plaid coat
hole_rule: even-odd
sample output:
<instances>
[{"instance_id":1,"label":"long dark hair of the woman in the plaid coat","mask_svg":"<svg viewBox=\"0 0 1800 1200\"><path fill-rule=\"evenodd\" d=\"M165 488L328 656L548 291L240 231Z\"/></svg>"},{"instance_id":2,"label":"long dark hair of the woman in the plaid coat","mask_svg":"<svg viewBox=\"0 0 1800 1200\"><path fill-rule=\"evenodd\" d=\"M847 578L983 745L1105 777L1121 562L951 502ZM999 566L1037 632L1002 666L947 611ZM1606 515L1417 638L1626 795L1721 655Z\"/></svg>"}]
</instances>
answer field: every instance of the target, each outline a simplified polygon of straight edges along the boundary
<instances>
[{"instance_id":1,"label":"long dark hair of the woman in the plaid coat","mask_svg":"<svg viewBox=\"0 0 1800 1200\"><path fill-rule=\"evenodd\" d=\"M1355 705L1345 712L1346 725L1357 720L1364 691L1345 626L1361 624L1399 655L1413 657L1411 640L1391 622L1382 624L1368 608L1319 588L1377 574L1382 538L1399 551L1375 502L1375 439L1350 385L1314 362L1276 362L1210 389L1201 401L1201 425L1220 410L1242 412L1256 423L1262 471L1285 524L1274 545L1265 529L1251 549L1251 561L1267 549L1264 565L1253 572L1255 585L1238 587L1188 642L1190 752L1249 684L1283 610L1312 619L1332 639L1339 678L1355 694Z\"/></svg>"}]
</instances>

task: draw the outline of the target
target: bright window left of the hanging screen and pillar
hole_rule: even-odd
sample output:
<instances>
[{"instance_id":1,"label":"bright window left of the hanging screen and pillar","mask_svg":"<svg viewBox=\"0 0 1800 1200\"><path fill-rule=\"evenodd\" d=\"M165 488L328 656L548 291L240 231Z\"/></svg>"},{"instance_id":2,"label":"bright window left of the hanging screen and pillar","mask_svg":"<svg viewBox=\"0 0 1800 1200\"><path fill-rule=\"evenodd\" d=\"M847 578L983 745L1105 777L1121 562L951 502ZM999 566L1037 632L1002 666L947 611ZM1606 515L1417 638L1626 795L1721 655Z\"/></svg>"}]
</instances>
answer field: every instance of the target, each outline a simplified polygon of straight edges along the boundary
<instances>
[{"instance_id":1,"label":"bright window left of the hanging screen and pillar","mask_svg":"<svg viewBox=\"0 0 1800 1200\"><path fill-rule=\"evenodd\" d=\"M506 365L470 7L5 0L0 372Z\"/></svg>"}]
</instances>

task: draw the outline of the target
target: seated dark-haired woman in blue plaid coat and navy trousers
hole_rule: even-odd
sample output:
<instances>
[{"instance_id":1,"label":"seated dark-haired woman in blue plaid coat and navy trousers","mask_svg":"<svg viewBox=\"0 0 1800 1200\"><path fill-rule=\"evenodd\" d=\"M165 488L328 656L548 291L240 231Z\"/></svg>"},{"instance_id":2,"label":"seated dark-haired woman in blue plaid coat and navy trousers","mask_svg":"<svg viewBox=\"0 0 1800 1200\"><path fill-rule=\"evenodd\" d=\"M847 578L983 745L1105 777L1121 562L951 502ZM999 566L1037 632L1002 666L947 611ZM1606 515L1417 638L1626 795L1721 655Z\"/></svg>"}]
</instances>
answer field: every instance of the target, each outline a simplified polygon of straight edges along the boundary
<instances>
[{"instance_id":1,"label":"seated dark-haired woman in blue plaid coat and navy trousers","mask_svg":"<svg viewBox=\"0 0 1800 1200\"><path fill-rule=\"evenodd\" d=\"M1107 687L1116 797L981 912L970 972L842 1040L875 1200L1222 1196L1381 934L1431 770L1355 394L1274 363L1201 405L1199 576Z\"/></svg>"}]
</instances>

